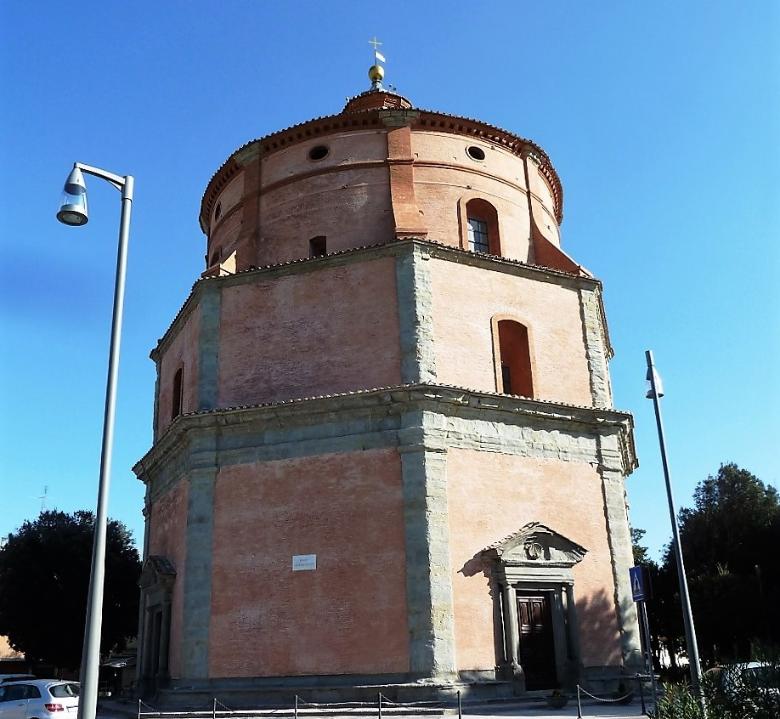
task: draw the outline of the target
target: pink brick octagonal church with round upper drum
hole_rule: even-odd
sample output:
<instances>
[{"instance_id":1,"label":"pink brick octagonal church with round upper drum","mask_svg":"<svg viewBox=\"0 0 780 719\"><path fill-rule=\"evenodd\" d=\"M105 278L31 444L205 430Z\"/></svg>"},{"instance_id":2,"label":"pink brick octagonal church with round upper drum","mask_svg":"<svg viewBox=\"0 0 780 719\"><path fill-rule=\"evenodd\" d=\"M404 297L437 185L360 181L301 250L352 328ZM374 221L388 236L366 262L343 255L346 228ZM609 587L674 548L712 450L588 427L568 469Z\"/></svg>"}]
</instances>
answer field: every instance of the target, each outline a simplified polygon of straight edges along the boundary
<instances>
[{"instance_id":1,"label":"pink brick octagonal church with round upper drum","mask_svg":"<svg viewBox=\"0 0 780 719\"><path fill-rule=\"evenodd\" d=\"M147 693L507 695L640 664L632 419L558 175L373 79L206 187L134 468Z\"/></svg>"}]
</instances>

